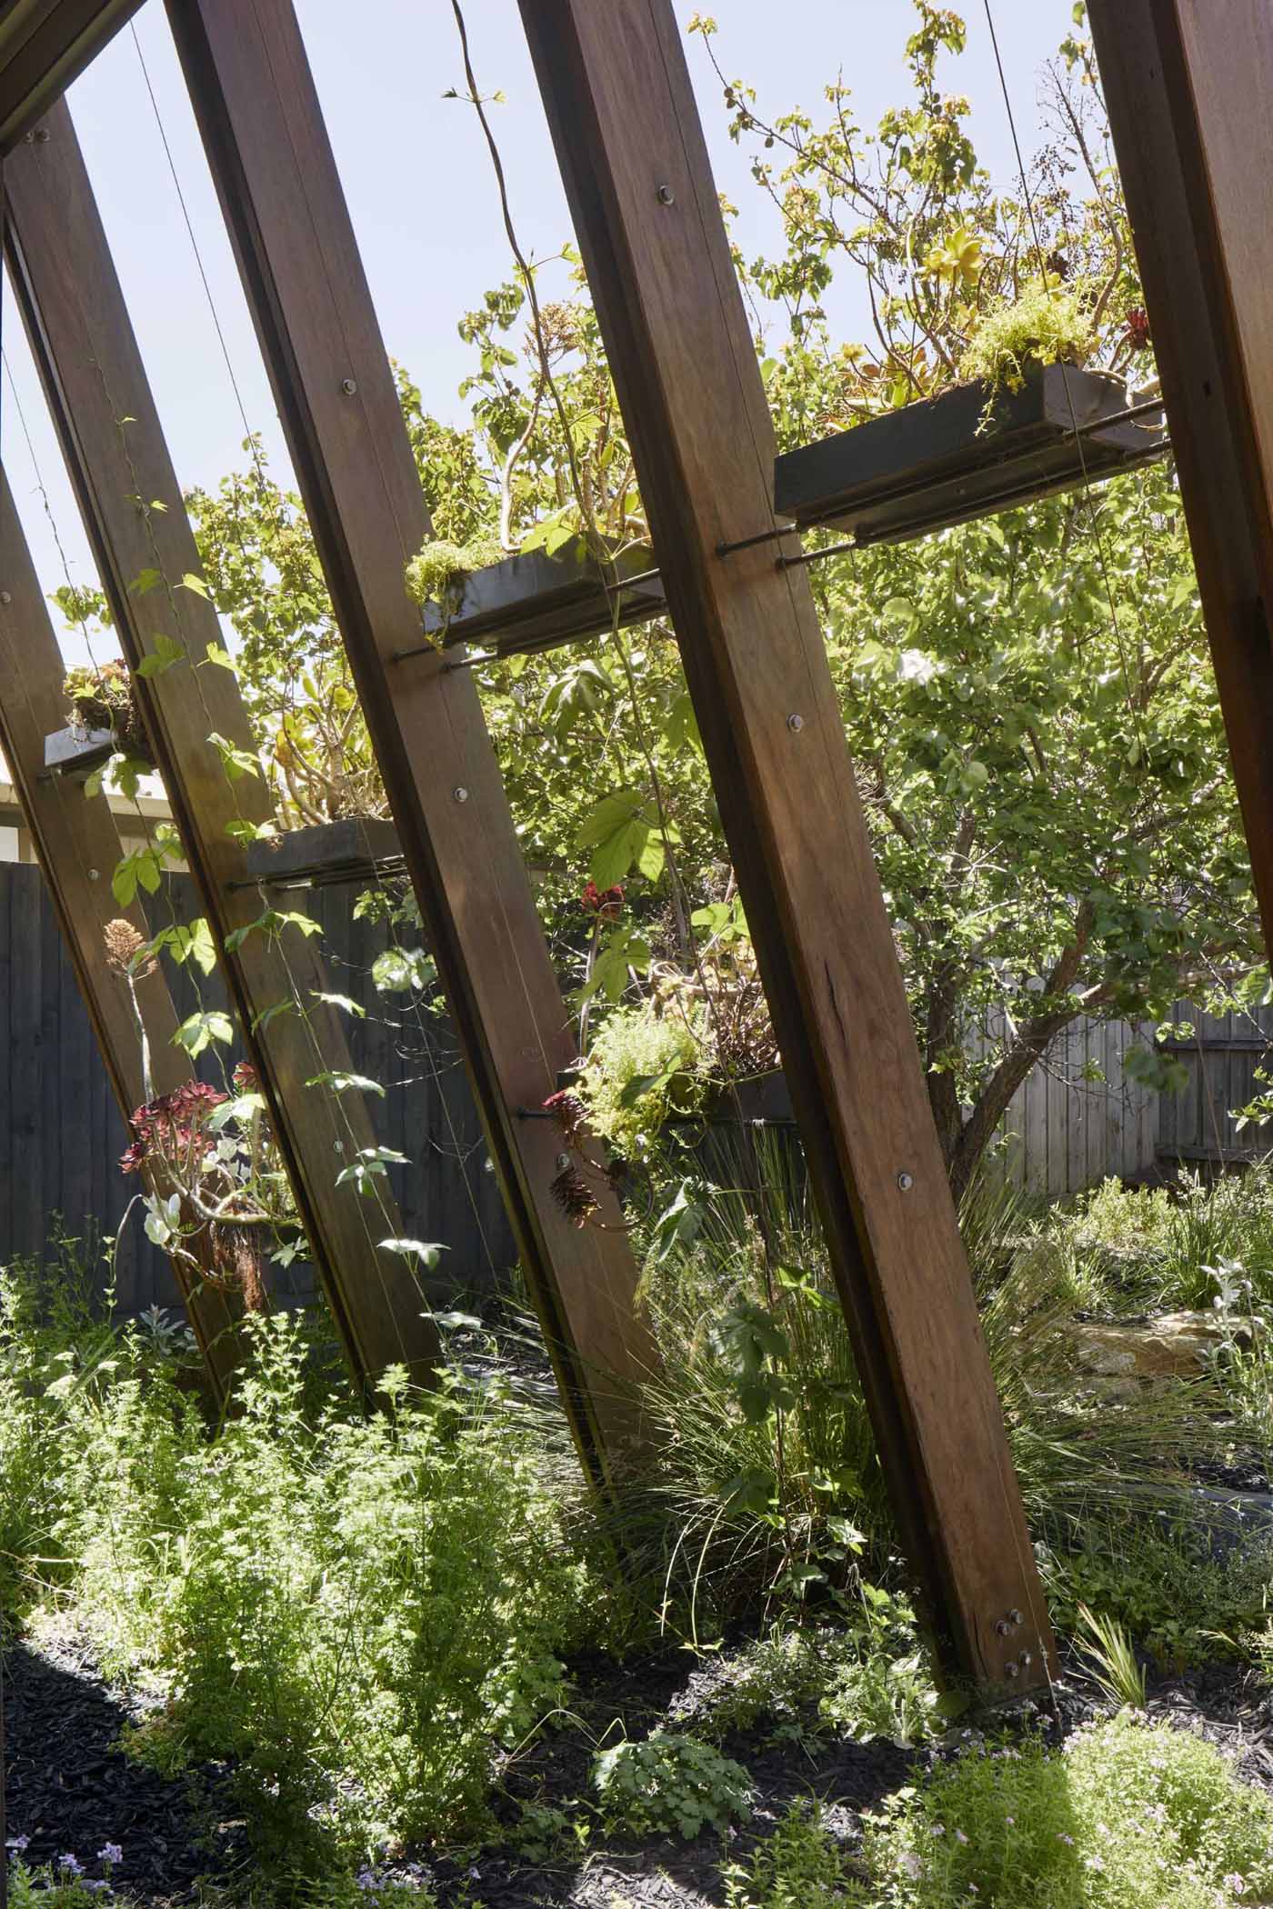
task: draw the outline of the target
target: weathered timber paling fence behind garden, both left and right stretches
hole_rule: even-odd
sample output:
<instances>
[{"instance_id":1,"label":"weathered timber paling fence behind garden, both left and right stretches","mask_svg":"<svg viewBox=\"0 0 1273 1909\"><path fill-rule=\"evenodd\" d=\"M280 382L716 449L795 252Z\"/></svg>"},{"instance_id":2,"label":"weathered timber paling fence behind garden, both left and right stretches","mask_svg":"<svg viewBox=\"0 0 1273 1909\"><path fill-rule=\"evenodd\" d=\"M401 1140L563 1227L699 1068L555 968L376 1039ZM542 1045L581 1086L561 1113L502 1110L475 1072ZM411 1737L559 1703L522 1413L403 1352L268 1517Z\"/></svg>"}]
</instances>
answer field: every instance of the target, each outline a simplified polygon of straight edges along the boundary
<instances>
[{"instance_id":1,"label":"weathered timber paling fence behind garden, both left and right stretches","mask_svg":"<svg viewBox=\"0 0 1273 1909\"><path fill-rule=\"evenodd\" d=\"M393 1168L403 1224L412 1237L449 1250L443 1277L468 1289L490 1287L513 1262L504 1216L473 1100L447 1021L416 1016L405 995L380 995L370 970L389 937L353 920L355 890L315 890L307 907L324 926L330 985L366 1010L351 1019L355 1067L384 1082L372 1117L384 1145L408 1159ZM177 918L197 913L193 884L174 876L168 897ZM153 909L162 920L166 907ZM200 979L202 1006L223 1004L216 977ZM179 970L174 993L183 1014L200 1000ZM1263 1038L1273 1038L1273 1008L1258 1019L1200 1016L1176 1008L1181 1040L1174 1052L1189 1067L1179 1094L1155 1094L1126 1079L1122 1058L1145 1029L1126 1021L1078 1021L1036 1067L1012 1103L1004 1130L1008 1170L1046 1199L1063 1199L1116 1174L1126 1180L1265 1151L1273 1134L1235 1132L1231 1111L1258 1090L1254 1071ZM1103 1079L1084 1079L1099 1069ZM218 1063L208 1061L208 1079ZM118 1172L124 1126L97 1058L88 1016L63 953L40 871L0 863L0 1264L42 1252L50 1214L73 1235L94 1224L115 1233L136 1182ZM118 1304L141 1311L170 1306L176 1290L164 1254L149 1245L137 1208L116 1254ZM303 1290L303 1275L300 1283Z\"/></svg>"}]
</instances>

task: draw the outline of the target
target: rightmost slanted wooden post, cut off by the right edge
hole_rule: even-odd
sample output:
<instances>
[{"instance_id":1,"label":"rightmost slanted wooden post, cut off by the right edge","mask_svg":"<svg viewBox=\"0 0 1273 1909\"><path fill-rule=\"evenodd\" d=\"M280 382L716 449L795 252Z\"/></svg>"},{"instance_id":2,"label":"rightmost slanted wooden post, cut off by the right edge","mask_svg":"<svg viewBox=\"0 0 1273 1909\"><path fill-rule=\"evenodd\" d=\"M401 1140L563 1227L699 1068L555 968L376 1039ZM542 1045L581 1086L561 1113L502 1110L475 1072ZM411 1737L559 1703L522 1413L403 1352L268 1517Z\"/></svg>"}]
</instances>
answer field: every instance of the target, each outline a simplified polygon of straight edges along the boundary
<instances>
[{"instance_id":1,"label":"rightmost slanted wooden post, cut off by the right edge","mask_svg":"<svg viewBox=\"0 0 1273 1909\"><path fill-rule=\"evenodd\" d=\"M1273 13L1092 0L1090 19L1273 949Z\"/></svg>"}]
</instances>

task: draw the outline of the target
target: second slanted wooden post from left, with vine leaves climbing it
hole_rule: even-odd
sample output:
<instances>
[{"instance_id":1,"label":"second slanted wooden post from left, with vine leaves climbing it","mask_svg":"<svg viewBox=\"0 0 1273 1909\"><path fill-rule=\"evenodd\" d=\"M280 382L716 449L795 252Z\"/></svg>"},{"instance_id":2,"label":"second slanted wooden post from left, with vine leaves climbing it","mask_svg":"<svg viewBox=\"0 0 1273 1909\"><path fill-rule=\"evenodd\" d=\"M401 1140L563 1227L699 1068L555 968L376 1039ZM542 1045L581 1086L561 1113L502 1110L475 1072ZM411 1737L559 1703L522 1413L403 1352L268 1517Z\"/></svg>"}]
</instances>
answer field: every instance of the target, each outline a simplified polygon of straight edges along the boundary
<instances>
[{"instance_id":1,"label":"second slanted wooden post from left, with vine leaves climbing it","mask_svg":"<svg viewBox=\"0 0 1273 1909\"><path fill-rule=\"evenodd\" d=\"M136 670L158 636L185 651L172 668L134 678L137 703L336 1327L359 1382L389 1363L428 1378L437 1331L414 1269L380 1250L401 1235L386 1182L376 1199L336 1184L374 1145L366 1107L357 1092L307 1086L349 1071L338 1012L321 998L323 958L296 930L256 930L227 951L227 937L263 913L231 829L265 823L273 809L261 777L225 771L221 746L254 758L256 743L235 676L208 662L221 643L216 611L183 584L198 578L195 533L65 105L6 158L4 185L17 304L124 655ZM134 588L147 571L160 582Z\"/></svg>"}]
</instances>

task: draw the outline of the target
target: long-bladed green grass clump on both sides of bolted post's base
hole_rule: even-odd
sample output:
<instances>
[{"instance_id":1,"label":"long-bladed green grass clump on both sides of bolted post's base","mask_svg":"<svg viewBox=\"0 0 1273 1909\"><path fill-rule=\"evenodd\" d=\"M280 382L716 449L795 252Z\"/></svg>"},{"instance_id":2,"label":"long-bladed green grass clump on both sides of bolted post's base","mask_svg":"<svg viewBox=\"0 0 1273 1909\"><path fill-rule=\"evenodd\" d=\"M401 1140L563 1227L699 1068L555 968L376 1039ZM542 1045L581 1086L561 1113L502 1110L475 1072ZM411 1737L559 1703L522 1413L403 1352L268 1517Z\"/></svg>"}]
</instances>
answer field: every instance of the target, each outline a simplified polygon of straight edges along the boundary
<instances>
[{"instance_id":1,"label":"long-bladed green grass clump on both sides of bolted post's base","mask_svg":"<svg viewBox=\"0 0 1273 1909\"><path fill-rule=\"evenodd\" d=\"M891 1548L844 1310L803 1176L777 1149L733 1185L681 1187L655 1227L643 1294L660 1371L643 1388L653 1462L628 1495L693 1626L763 1596L851 1588L844 1525ZM1183 1466L1223 1447L1208 1380L1147 1388L1094 1413L1076 1384L1065 1264L1021 1243L1004 1199L968 1224L991 1365L1031 1521L1057 1548L1101 1518L1185 1502ZM641 1520L645 1521L641 1533ZM1103 1604L1105 1600L1088 1600Z\"/></svg>"}]
</instances>

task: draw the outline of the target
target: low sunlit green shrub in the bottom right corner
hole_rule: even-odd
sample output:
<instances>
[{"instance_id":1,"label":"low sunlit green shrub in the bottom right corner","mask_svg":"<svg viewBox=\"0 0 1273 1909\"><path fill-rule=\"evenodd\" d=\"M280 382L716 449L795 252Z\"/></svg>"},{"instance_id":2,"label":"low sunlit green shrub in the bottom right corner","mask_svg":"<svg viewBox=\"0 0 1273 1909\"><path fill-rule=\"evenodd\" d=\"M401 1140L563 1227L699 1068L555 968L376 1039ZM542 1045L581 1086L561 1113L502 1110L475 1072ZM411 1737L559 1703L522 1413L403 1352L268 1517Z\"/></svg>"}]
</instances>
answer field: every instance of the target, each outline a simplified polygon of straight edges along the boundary
<instances>
[{"instance_id":1,"label":"low sunlit green shrub in the bottom right corner","mask_svg":"<svg viewBox=\"0 0 1273 1909\"><path fill-rule=\"evenodd\" d=\"M1221 1909L1273 1890L1273 1802L1218 1749L1132 1712L1061 1752L977 1745L866 1821L889 1905Z\"/></svg>"}]
</instances>

